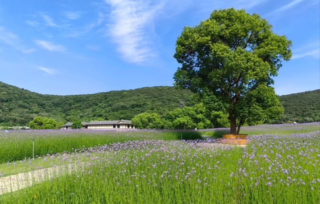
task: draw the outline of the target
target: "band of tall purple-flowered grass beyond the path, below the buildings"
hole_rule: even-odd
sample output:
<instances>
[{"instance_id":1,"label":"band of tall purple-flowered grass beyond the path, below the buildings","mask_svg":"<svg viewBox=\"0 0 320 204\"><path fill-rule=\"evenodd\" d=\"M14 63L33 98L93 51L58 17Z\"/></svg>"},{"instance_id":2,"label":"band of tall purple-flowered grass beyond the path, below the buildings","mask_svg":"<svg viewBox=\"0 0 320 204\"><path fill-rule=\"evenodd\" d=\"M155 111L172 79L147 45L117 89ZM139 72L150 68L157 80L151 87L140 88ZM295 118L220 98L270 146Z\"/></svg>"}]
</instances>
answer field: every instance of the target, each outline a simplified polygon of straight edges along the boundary
<instances>
[{"instance_id":1,"label":"band of tall purple-flowered grass beyond the path, below the buildings","mask_svg":"<svg viewBox=\"0 0 320 204\"><path fill-rule=\"evenodd\" d=\"M105 130L21 130L0 132L0 163L23 160L34 155L75 152L80 149L132 140L200 139L196 131L105 131Z\"/></svg>"}]
</instances>

